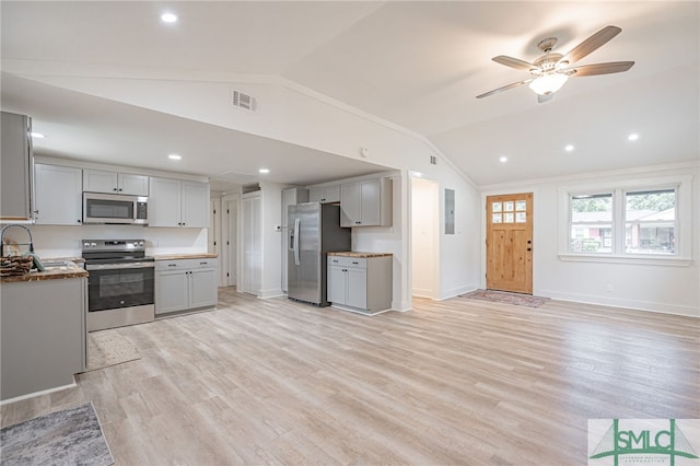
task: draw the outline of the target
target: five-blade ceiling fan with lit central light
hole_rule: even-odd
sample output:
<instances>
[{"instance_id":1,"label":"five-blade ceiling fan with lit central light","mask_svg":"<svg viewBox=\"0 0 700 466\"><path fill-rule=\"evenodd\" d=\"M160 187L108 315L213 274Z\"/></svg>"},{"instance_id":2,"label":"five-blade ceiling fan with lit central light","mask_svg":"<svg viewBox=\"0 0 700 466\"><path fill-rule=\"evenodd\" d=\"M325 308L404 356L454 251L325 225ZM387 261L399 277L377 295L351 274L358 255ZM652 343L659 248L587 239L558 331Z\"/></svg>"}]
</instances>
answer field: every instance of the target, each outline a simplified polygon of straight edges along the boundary
<instances>
[{"instance_id":1,"label":"five-blade ceiling fan with lit central light","mask_svg":"<svg viewBox=\"0 0 700 466\"><path fill-rule=\"evenodd\" d=\"M529 89L537 94L537 102L542 103L551 100L555 96L555 92L559 91L569 78L627 71L632 68L634 61L612 61L608 63L573 66L574 62L606 44L621 31L622 30L617 26L606 26L575 46L567 55L551 51L557 44L557 37L547 37L537 44L537 47L544 55L540 55L532 63L505 55L493 57L492 60L497 63L515 68L516 70L529 71L530 78L494 89L493 91L485 92L483 94L477 95L477 98L488 97L489 95L517 88L521 84L529 84Z\"/></svg>"}]
</instances>

